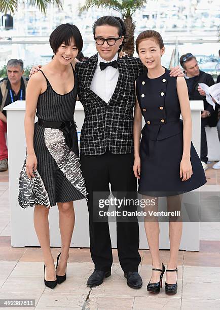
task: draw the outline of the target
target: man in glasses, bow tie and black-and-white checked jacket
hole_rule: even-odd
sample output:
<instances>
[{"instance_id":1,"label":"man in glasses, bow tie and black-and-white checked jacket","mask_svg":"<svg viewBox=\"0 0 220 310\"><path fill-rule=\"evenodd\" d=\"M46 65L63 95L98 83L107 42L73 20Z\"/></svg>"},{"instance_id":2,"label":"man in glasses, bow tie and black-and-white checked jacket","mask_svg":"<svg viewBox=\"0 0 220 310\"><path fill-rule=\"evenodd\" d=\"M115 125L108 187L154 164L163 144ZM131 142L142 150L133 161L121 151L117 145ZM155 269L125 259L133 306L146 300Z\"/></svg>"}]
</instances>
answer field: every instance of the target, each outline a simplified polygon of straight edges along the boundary
<instances>
[{"instance_id":1,"label":"man in glasses, bow tie and black-and-white checked jacket","mask_svg":"<svg viewBox=\"0 0 220 310\"><path fill-rule=\"evenodd\" d=\"M138 58L118 57L125 32L120 18L99 18L93 26L98 54L76 64L78 95L85 111L80 142L81 169L89 192L90 251L95 264L88 286L100 285L110 276L113 263L107 217L102 222L94 218L98 199L108 197L109 183L112 192L118 192L114 194L116 197L122 198L120 192L128 196L137 190L132 170L134 83L143 73L143 65ZM94 192L99 192L97 199ZM132 221L117 218L117 246L128 286L140 288L136 217Z\"/></svg>"}]
</instances>

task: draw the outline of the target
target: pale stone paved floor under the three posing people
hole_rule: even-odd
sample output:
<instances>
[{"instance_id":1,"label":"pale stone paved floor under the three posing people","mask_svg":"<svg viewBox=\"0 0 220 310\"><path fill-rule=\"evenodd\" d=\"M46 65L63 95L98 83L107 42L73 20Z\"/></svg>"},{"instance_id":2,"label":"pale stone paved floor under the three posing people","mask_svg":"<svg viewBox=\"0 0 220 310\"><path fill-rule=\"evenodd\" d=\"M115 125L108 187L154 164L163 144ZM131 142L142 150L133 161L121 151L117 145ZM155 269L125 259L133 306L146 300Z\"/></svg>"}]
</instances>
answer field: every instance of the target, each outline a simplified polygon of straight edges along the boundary
<instances>
[{"instance_id":1,"label":"pale stone paved floor under the three posing people","mask_svg":"<svg viewBox=\"0 0 220 310\"><path fill-rule=\"evenodd\" d=\"M220 170L208 169L206 176L208 185L220 184ZM51 290L43 281L41 249L12 248L10 235L8 172L0 172L0 299L35 299L35 309L42 310L220 309L219 222L201 223L200 252L179 251L178 293L173 296L164 292L165 279L159 295L146 292L146 284L151 277L148 250L140 250L139 272L143 286L139 290L126 285L115 249L112 276L102 285L88 288L86 281L93 271L93 263L89 249L83 248L70 249L67 280ZM59 248L52 249L54 259L59 251ZM161 257L166 264L169 251L161 251Z\"/></svg>"}]
</instances>

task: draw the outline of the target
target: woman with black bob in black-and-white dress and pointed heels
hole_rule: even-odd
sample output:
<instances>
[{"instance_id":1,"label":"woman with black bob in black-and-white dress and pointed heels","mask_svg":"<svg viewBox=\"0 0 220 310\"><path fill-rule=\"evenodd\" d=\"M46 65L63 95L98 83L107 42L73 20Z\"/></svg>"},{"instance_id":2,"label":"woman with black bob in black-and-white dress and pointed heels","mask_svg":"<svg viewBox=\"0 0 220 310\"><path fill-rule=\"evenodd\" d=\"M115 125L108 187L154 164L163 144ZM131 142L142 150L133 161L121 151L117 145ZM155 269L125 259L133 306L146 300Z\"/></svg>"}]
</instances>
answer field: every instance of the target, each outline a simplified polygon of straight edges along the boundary
<instances>
[{"instance_id":1,"label":"woman with black bob in black-and-white dress and pointed heels","mask_svg":"<svg viewBox=\"0 0 220 310\"><path fill-rule=\"evenodd\" d=\"M79 168L74 122L75 63L83 47L82 36L75 25L62 24L51 33L50 45L53 59L31 76L26 91L27 157L19 180L19 203L22 208L35 206L34 227L44 255L45 285L53 289L66 279L75 224L73 201L84 199L87 191ZM38 122L34 124L35 114ZM56 203L62 246L55 270L48 214Z\"/></svg>"}]
</instances>

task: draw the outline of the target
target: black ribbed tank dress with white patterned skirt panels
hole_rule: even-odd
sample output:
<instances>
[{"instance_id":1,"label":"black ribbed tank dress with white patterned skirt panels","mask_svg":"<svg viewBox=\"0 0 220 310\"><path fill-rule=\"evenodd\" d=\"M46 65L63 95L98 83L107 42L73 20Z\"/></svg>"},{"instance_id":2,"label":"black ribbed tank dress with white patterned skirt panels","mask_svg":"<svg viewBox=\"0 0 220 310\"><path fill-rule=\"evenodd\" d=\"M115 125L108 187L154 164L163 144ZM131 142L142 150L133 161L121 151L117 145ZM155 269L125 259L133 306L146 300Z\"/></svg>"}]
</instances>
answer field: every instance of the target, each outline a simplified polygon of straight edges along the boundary
<instances>
[{"instance_id":1,"label":"black ribbed tank dress with white patterned skirt panels","mask_svg":"<svg viewBox=\"0 0 220 310\"><path fill-rule=\"evenodd\" d=\"M74 68L72 68L74 71ZM42 72L42 71L41 71ZM41 74L41 73L39 73ZM45 76L45 74L42 72ZM47 81L47 90L39 96L36 116L47 122L72 121L77 99L77 79L67 94L57 94ZM72 149L65 143L60 129L44 128L34 124L33 146L38 160L35 178L29 180L24 162L19 179L19 204L22 208L42 204L54 206L57 202L84 199L87 195L85 180L79 163L76 127L71 127Z\"/></svg>"}]
</instances>

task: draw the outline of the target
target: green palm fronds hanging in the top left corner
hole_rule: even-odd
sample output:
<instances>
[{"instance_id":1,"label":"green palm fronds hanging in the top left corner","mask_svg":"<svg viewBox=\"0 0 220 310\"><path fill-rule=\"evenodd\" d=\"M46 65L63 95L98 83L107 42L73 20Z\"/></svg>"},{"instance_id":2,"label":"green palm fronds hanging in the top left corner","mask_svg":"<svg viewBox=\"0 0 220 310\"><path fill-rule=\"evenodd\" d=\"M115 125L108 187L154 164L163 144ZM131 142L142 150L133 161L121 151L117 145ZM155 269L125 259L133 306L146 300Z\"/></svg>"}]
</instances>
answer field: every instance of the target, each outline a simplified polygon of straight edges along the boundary
<instances>
[{"instance_id":1,"label":"green palm fronds hanging in the top left corner","mask_svg":"<svg viewBox=\"0 0 220 310\"><path fill-rule=\"evenodd\" d=\"M23 2L29 3L32 6L36 6L44 14L46 14L48 4L56 5L58 9L62 9L61 0L23 0ZM0 0L0 12L4 12L5 14L14 14L15 11L17 11L17 7L17 0Z\"/></svg>"}]
</instances>

